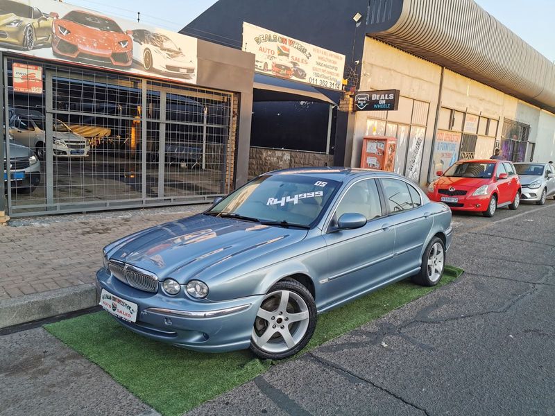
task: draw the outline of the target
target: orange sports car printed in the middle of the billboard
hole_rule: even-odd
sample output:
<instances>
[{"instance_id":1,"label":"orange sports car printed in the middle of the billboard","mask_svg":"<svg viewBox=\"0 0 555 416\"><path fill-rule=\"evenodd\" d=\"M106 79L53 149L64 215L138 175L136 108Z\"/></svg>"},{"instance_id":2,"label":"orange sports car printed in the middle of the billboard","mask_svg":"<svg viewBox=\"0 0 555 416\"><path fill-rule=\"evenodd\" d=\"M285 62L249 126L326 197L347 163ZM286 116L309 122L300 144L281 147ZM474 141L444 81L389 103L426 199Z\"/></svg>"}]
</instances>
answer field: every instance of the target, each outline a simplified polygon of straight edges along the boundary
<instances>
[{"instance_id":1,"label":"orange sports car printed in the middle of the billboard","mask_svg":"<svg viewBox=\"0 0 555 416\"><path fill-rule=\"evenodd\" d=\"M52 51L63 58L93 64L130 67L133 41L109 17L73 10L52 25Z\"/></svg>"}]
</instances>

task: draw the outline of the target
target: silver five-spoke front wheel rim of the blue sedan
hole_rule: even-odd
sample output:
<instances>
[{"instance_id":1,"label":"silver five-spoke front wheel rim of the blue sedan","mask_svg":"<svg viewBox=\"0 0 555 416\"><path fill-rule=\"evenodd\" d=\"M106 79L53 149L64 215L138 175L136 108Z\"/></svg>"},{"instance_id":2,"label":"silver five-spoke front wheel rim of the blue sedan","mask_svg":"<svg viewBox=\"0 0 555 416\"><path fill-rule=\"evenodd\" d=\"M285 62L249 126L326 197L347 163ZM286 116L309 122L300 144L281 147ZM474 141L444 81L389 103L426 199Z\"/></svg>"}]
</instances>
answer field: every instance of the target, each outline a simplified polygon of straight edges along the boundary
<instances>
[{"instance_id":1,"label":"silver five-spoke front wheel rim of the blue sedan","mask_svg":"<svg viewBox=\"0 0 555 416\"><path fill-rule=\"evenodd\" d=\"M268 293L257 312L253 342L264 352L286 352L305 336L309 319L307 303L297 293Z\"/></svg>"}]
</instances>

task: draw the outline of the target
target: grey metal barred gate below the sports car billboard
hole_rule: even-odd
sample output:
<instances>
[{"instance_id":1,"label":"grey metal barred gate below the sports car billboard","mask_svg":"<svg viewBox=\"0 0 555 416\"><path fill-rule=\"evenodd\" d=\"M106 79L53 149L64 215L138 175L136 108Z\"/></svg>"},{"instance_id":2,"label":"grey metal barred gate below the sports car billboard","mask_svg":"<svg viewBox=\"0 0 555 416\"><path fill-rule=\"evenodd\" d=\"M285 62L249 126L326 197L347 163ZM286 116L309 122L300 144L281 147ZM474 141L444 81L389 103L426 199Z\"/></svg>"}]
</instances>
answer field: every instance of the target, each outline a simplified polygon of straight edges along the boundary
<instances>
[{"instance_id":1,"label":"grey metal barred gate below the sports car billboard","mask_svg":"<svg viewBox=\"0 0 555 416\"><path fill-rule=\"evenodd\" d=\"M6 156L22 158L21 144L42 160L26 169L40 172L32 191L6 166L10 216L211 202L231 190L234 94L51 64L43 94L15 92L14 60L4 59Z\"/></svg>"}]
</instances>

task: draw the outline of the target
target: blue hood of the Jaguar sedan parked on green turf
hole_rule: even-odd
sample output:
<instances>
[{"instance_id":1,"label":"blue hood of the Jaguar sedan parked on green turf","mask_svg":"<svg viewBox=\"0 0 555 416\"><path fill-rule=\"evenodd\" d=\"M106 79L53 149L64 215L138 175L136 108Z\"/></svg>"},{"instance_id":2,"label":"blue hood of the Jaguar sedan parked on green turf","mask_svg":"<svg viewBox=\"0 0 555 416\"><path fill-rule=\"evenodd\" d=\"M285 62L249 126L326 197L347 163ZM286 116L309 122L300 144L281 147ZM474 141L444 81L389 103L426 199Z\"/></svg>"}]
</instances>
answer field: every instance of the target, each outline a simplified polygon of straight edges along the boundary
<instances>
[{"instance_id":1,"label":"blue hood of the Jaguar sedan parked on green turf","mask_svg":"<svg viewBox=\"0 0 555 416\"><path fill-rule=\"evenodd\" d=\"M210 281L235 266L244 265L305 238L307 230L198 214L146 229L114 243L110 259L171 276L181 284L191 277Z\"/></svg>"}]
</instances>

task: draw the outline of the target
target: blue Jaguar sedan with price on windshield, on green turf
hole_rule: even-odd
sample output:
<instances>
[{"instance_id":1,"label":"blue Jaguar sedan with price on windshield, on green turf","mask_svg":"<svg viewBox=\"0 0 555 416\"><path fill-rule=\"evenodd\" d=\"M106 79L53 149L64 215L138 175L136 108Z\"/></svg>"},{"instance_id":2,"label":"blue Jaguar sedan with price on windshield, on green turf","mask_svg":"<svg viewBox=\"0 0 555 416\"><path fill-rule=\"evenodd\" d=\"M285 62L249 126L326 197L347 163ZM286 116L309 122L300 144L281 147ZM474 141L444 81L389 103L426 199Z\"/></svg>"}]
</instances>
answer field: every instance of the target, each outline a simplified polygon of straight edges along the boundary
<instances>
[{"instance_id":1,"label":"blue Jaguar sedan with price on windshield, on green turf","mask_svg":"<svg viewBox=\"0 0 555 416\"><path fill-rule=\"evenodd\" d=\"M274 171L106 246L99 302L178 347L287 358L318 313L407 277L437 284L451 237L450 209L395 173Z\"/></svg>"}]
</instances>

